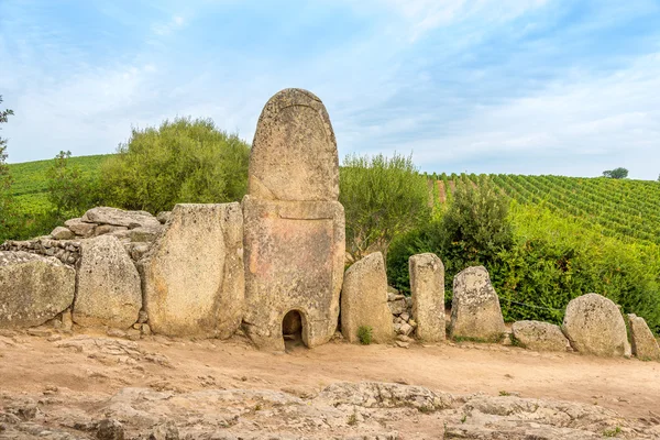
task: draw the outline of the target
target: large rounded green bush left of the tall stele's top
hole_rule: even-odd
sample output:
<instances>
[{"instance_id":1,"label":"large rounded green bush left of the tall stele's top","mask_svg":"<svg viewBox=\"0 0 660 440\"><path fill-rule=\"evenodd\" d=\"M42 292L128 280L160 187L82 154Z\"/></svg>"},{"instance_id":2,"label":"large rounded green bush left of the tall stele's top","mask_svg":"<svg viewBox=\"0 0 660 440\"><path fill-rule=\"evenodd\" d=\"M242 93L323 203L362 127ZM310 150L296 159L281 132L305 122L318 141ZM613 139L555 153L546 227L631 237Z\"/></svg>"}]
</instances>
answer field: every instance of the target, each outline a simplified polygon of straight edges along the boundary
<instances>
[{"instance_id":1,"label":"large rounded green bush left of the tall stele's top","mask_svg":"<svg viewBox=\"0 0 660 440\"><path fill-rule=\"evenodd\" d=\"M177 118L134 129L101 166L106 205L156 213L178 202L241 200L248 189L249 145L208 119Z\"/></svg>"}]
</instances>

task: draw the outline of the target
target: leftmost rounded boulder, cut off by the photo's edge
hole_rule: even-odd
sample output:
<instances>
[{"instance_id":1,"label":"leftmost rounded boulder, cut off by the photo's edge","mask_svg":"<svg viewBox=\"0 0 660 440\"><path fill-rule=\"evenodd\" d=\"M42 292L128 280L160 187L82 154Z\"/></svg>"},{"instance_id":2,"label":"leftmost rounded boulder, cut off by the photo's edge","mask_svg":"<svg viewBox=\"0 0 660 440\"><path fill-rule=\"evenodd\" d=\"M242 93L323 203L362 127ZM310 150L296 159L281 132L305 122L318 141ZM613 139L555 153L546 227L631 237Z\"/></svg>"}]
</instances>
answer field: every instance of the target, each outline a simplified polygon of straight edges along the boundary
<instances>
[{"instance_id":1,"label":"leftmost rounded boulder, cut off by the photo's edge","mask_svg":"<svg viewBox=\"0 0 660 440\"><path fill-rule=\"evenodd\" d=\"M0 252L0 328L41 326L70 307L76 271L54 257Z\"/></svg>"}]
</instances>

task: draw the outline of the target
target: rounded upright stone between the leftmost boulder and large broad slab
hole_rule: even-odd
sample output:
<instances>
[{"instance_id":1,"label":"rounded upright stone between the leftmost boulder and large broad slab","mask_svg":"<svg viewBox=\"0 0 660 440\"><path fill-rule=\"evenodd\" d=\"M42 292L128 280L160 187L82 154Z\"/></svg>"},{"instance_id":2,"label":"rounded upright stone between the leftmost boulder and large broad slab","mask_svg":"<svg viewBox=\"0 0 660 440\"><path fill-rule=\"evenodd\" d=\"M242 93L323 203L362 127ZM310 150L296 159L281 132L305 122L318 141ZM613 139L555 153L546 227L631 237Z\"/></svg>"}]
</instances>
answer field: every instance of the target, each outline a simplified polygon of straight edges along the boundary
<instances>
[{"instance_id":1,"label":"rounded upright stone between the leftmost boulder and large broad slab","mask_svg":"<svg viewBox=\"0 0 660 440\"><path fill-rule=\"evenodd\" d=\"M119 240L101 235L82 241L74 322L127 329L141 308L140 275Z\"/></svg>"}]
</instances>

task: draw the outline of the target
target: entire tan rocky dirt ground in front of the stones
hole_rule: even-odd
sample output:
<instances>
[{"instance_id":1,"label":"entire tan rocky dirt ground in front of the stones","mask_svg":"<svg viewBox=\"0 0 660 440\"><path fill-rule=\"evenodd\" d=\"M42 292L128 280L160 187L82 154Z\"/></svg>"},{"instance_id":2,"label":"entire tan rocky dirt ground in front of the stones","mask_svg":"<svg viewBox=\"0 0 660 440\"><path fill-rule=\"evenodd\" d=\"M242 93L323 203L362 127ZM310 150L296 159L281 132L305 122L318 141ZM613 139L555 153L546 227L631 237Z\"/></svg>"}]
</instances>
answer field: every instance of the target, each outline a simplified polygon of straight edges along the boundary
<instances>
[{"instance_id":1,"label":"entire tan rocky dirt ground in front of the stones","mask_svg":"<svg viewBox=\"0 0 660 440\"><path fill-rule=\"evenodd\" d=\"M30 333L0 333L0 439L660 438L657 362Z\"/></svg>"}]
</instances>

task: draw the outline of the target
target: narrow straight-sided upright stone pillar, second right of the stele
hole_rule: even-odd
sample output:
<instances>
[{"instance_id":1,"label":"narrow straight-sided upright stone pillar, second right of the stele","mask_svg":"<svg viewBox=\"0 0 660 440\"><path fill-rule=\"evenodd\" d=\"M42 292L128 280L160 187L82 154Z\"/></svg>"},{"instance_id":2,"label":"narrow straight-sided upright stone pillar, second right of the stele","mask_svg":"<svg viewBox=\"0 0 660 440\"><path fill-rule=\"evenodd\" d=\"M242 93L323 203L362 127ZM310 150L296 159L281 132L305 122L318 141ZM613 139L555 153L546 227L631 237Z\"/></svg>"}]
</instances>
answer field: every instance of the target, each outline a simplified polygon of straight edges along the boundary
<instances>
[{"instance_id":1,"label":"narrow straight-sided upright stone pillar, second right of the stele","mask_svg":"<svg viewBox=\"0 0 660 440\"><path fill-rule=\"evenodd\" d=\"M426 253L410 256L408 268L417 337L425 342L444 341L444 265L436 254Z\"/></svg>"}]
</instances>

